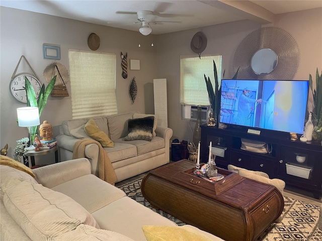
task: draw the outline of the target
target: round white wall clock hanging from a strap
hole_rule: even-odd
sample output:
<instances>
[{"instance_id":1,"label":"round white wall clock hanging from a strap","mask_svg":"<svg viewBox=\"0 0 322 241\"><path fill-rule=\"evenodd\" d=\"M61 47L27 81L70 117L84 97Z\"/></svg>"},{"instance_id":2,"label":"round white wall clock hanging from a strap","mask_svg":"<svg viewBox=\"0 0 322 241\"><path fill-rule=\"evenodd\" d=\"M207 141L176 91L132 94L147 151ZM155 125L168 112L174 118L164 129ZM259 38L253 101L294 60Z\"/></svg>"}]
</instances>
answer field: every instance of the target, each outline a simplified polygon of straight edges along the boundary
<instances>
[{"instance_id":1,"label":"round white wall clock hanging from a strap","mask_svg":"<svg viewBox=\"0 0 322 241\"><path fill-rule=\"evenodd\" d=\"M41 83L34 75L28 73L17 74L10 82L10 93L17 100L23 103L27 103L25 77L27 77L31 85L34 87L37 99L39 97L39 92L41 89Z\"/></svg>"}]
</instances>

